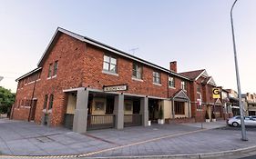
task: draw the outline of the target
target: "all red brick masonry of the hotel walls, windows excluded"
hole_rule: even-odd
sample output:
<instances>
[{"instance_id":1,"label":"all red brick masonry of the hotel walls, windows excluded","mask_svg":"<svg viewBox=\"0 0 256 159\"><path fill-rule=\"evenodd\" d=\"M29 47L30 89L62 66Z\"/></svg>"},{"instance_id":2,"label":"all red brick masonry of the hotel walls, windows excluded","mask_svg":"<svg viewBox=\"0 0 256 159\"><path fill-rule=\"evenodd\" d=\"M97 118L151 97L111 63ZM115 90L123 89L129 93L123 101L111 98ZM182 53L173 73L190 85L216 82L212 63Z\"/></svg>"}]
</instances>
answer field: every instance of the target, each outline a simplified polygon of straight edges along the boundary
<instances>
[{"instance_id":1,"label":"all red brick masonry of the hotel walls, windows excluded","mask_svg":"<svg viewBox=\"0 0 256 159\"><path fill-rule=\"evenodd\" d=\"M50 125L59 126L63 124L64 114L67 111L67 94L65 89L77 87L89 87L102 89L103 85L128 84L128 94L141 94L155 96L159 98L171 98L181 89L181 81L187 84L186 94L191 102L191 115L195 121L200 121L201 115L196 110L197 81L189 81L185 78L175 77L175 88L169 88L169 74L155 69L148 65L143 65L142 81L132 79L133 60L127 57L111 53L96 45L82 42L70 35L60 33L55 37L54 42L48 49L49 54L44 57L39 65L41 70L40 80L36 81L34 98L37 99L35 122L41 124L45 94L54 94L52 112L48 112ZM102 72L104 55L113 55L118 59L118 75L108 75ZM58 61L56 77L47 79L49 64ZM177 70L177 64L171 63L171 68ZM161 84L153 84L153 71L160 73ZM31 75L30 75L31 76ZM13 119L27 120L30 107L20 105L21 99L32 99L35 83L24 84L24 79L19 80L16 91L15 108L13 109ZM201 86L201 93L205 103L213 103L210 98L210 84ZM48 108L46 108L47 111ZM205 106L203 106L205 113ZM203 114L204 116L204 114Z\"/></svg>"}]
</instances>

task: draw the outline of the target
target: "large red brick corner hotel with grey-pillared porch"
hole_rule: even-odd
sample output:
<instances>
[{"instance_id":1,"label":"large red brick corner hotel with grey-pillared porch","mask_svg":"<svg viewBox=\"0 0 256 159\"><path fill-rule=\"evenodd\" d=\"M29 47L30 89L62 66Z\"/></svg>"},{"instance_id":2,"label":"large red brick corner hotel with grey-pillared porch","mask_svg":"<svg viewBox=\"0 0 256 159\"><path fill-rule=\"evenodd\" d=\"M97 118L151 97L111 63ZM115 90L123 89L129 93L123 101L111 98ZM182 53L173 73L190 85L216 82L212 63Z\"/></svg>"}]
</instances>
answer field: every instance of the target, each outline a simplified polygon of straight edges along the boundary
<instances>
[{"instance_id":1,"label":"large red brick corner hotel with grey-pillared porch","mask_svg":"<svg viewBox=\"0 0 256 159\"><path fill-rule=\"evenodd\" d=\"M147 126L161 118L161 110L166 121L194 119L196 84L205 82L205 104L210 104L207 95L215 84L203 75L195 80L178 74L176 62L166 69L57 28L37 68L16 79L11 117L65 125L79 133Z\"/></svg>"}]
</instances>

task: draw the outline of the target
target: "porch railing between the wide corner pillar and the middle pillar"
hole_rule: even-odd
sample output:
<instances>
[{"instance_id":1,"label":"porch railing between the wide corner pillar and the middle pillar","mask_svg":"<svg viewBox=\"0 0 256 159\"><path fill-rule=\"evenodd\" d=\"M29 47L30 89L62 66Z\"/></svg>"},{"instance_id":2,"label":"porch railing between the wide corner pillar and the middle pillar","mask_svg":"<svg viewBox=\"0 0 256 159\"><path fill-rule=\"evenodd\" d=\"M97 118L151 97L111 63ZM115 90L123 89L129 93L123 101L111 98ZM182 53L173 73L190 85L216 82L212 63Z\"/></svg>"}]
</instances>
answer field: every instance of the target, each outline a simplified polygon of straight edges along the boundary
<instances>
[{"instance_id":1,"label":"porch railing between the wide corner pillar and the middle pillar","mask_svg":"<svg viewBox=\"0 0 256 159\"><path fill-rule=\"evenodd\" d=\"M87 130L113 127L115 127L114 114L88 114L87 116Z\"/></svg>"}]
</instances>

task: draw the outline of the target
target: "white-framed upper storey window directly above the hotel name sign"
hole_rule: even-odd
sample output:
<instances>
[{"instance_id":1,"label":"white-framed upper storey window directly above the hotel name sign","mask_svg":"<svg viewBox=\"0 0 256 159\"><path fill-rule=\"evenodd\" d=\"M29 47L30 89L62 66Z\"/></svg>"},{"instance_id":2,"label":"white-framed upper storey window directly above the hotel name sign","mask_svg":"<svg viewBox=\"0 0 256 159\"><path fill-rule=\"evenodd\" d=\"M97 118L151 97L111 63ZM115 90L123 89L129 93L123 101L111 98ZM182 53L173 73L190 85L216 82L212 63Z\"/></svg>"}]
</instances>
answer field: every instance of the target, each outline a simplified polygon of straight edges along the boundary
<instances>
[{"instance_id":1,"label":"white-framed upper storey window directly above the hotel name sign","mask_svg":"<svg viewBox=\"0 0 256 159\"><path fill-rule=\"evenodd\" d=\"M117 58L104 55L103 70L111 73L118 73Z\"/></svg>"}]
</instances>

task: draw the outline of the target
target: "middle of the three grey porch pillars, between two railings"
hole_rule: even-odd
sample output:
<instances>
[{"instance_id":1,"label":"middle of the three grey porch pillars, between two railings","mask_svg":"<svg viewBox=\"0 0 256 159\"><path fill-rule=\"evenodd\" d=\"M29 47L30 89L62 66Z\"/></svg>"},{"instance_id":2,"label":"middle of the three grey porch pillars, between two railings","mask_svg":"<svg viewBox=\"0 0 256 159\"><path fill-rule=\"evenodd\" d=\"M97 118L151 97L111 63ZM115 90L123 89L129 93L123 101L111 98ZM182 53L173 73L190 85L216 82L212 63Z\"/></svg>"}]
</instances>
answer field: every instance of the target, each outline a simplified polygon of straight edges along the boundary
<instances>
[{"instance_id":1,"label":"middle of the three grey porch pillars, between two railings","mask_svg":"<svg viewBox=\"0 0 256 159\"><path fill-rule=\"evenodd\" d=\"M116 129L124 128L124 94L118 94L115 96L114 104L115 124Z\"/></svg>"}]
</instances>

